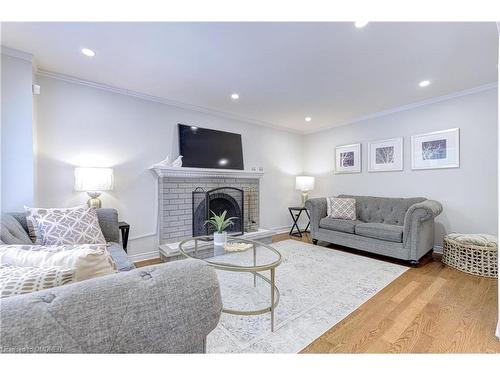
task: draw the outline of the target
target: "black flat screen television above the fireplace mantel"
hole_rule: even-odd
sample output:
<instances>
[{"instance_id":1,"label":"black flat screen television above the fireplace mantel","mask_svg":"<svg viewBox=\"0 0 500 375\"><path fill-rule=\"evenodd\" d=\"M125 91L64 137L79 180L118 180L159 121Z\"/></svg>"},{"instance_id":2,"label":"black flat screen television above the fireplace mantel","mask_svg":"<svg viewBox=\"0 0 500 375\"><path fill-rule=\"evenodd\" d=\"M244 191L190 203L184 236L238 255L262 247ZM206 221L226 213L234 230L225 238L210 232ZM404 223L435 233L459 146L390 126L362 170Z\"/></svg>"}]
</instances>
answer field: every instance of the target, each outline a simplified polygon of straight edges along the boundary
<instances>
[{"instance_id":1,"label":"black flat screen television above the fireplace mantel","mask_svg":"<svg viewBox=\"0 0 500 375\"><path fill-rule=\"evenodd\" d=\"M241 134L178 125L183 167L243 169Z\"/></svg>"}]
</instances>

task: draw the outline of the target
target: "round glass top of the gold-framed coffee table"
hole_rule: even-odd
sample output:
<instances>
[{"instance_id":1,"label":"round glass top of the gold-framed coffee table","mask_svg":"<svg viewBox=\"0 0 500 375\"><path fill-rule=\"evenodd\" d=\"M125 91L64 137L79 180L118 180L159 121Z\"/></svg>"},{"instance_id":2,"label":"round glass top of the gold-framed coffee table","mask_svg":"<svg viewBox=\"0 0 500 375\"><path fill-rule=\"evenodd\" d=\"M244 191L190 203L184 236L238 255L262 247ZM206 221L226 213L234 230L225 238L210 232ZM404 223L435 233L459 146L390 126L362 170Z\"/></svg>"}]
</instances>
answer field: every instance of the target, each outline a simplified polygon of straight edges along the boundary
<instances>
[{"instance_id":1,"label":"round glass top of the gold-framed coffee table","mask_svg":"<svg viewBox=\"0 0 500 375\"><path fill-rule=\"evenodd\" d=\"M222 270L258 272L281 263L281 254L274 247L239 237L228 236L225 245L215 245L213 236L193 237L182 241L179 250Z\"/></svg>"}]
</instances>

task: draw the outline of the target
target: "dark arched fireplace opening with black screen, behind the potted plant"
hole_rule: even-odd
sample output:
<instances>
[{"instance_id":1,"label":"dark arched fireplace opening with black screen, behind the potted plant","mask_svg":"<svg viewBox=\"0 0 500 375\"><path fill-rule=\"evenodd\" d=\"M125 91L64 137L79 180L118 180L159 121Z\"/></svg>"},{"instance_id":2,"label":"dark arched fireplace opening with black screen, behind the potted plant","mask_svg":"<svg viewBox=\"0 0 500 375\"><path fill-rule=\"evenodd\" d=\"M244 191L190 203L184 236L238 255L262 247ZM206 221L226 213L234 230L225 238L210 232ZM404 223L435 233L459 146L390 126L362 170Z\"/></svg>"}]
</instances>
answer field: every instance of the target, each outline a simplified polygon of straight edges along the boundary
<instances>
[{"instance_id":1,"label":"dark arched fireplace opening with black screen, behind the potted plant","mask_svg":"<svg viewBox=\"0 0 500 375\"><path fill-rule=\"evenodd\" d=\"M192 193L193 236L211 234L213 229L205 225L213 214L226 211L226 217L232 217L233 226L226 231L230 235L244 234L244 191L236 187L224 186L205 191L197 187Z\"/></svg>"}]
</instances>

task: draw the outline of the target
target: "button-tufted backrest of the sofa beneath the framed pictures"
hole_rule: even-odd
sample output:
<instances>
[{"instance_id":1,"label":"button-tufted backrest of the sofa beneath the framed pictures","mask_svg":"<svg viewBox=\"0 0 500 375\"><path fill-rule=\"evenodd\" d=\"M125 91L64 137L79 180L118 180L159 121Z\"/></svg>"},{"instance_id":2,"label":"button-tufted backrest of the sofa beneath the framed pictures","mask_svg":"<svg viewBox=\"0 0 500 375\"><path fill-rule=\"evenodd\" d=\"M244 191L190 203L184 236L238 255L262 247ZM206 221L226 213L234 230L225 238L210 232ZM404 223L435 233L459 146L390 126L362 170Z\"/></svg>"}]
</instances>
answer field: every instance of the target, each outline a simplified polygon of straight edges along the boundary
<instances>
[{"instance_id":1,"label":"button-tufted backrest of the sofa beneath the framed pictures","mask_svg":"<svg viewBox=\"0 0 500 375\"><path fill-rule=\"evenodd\" d=\"M425 198L381 198L354 195L339 195L339 198L356 200L357 219L365 223L404 225L406 211Z\"/></svg>"}]
</instances>

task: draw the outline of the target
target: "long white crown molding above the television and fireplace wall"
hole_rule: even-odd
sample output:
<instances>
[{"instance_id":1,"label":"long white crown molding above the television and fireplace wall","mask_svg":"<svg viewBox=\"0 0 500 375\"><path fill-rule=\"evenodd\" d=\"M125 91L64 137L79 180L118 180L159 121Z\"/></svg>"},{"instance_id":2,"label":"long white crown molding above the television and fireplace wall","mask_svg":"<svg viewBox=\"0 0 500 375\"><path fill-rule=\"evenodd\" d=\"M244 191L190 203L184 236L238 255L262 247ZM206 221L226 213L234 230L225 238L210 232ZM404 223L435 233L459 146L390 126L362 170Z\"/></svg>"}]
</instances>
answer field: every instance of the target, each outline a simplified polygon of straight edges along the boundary
<instances>
[{"instance_id":1,"label":"long white crown molding above the television and fireplace wall","mask_svg":"<svg viewBox=\"0 0 500 375\"><path fill-rule=\"evenodd\" d=\"M210 115L210 116L224 117L224 118L231 119L231 120L246 122L246 123L249 123L252 125L263 126L266 128L272 128L272 129L276 129L276 130L286 131L289 133L303 134L301 131L298 131L298 130L289 129L289 128L286 128L284 126L280 126L280 125L272 124L269 122L252 119L252 118L245 117L245 116L240 116L240 115L237 115L234 113L218 111L215 109L205 108L205 107L197 106L194 104L188 104L188 103L184 103L184 102L178 102L175 100L171 100L171 99L167 99L167 98L163 98L163 97L159 97L159 96L145 94L145 93L142 93L139 91L127 90L127 89L107 85L104 83L88 81L88 80L84 80L81 78L65 75L62 73L55 73L55 72L50 72L50 71L43 70L43 69L38 69L36 74L41 76L41 77L57 79L60 81L65 81L65 82L74 83L77 85L83 85L83 86L92 87L92 88L99 89L99 90L112 92L115 94L127 95L127 96L131 96L134 98L150 101L150 102L166 104L166 105L169 105L172 107L186 109L186 110L194 111L194 112L199 112L199 113L203 113L203 114Z\"/></svg>"}]
</instances>

